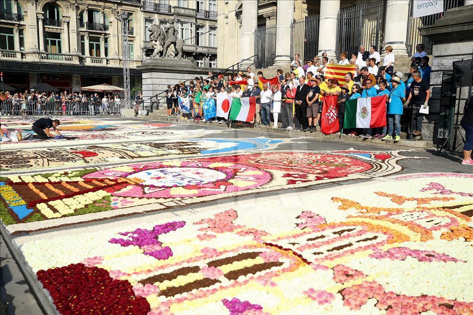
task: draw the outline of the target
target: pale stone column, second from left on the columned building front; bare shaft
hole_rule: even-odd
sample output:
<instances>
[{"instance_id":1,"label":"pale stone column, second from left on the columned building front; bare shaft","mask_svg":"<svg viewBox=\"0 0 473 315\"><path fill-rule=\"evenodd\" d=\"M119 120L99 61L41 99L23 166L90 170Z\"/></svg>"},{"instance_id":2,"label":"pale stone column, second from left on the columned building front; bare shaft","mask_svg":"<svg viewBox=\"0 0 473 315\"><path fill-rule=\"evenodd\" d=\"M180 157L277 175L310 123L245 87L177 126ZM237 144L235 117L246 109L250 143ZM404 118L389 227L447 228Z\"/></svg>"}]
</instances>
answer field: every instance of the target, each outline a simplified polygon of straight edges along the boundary
<instances>
[{"instance_id":1,"label":"pale stone column, second from left on the columned building front; bare shaft","mask_svg":"<svg viewBox=\"0 0 473 315\"><path fill-rule=\"evenodd\" d=\"M276 11L276 58L274 65L291 64L291 24L294 21L294 0L278 0Z\"/></svg>"}]
</instances>

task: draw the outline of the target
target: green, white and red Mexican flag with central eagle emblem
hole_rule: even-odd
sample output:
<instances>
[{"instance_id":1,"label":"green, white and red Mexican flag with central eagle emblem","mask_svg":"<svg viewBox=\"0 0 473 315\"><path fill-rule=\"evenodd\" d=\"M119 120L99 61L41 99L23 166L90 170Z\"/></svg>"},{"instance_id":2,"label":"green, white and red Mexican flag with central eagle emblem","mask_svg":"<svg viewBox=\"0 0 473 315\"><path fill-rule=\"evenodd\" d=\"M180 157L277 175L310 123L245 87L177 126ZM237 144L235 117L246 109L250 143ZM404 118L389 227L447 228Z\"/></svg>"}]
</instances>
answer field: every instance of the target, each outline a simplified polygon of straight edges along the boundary
<instances>
[{"instance_id":1,"label":"green, white and red Mexican flag with central eagle emblem","mask_svg":"<svg viewBox=\"0 0 473 315\"><path fill-rule=\"evenodd\" d=\"M345 102L343 128L377 128L386 126L386 96L359 98Z\"/></svg>"}]
</instances>

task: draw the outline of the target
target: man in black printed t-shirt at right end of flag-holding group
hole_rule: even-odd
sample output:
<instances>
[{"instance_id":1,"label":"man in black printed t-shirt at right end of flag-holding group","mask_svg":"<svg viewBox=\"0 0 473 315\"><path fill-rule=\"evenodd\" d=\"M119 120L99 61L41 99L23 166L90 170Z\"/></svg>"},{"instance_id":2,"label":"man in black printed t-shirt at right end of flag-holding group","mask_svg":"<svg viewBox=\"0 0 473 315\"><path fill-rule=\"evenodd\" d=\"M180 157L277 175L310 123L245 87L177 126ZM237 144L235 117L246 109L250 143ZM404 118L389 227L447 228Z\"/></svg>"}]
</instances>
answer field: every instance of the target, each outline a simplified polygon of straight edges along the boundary
<instances>
[{"instance_id":1,"label":"man in black printed t-shirt at right end of flag-holding group","mask_svg":"<svg viewBox=\"0 0 473 315\"><path fill-rule=\"evenodd\" d=\"M407 97L406 103L404 103L404 105L407 106L409 105L409 103L412 102L412 108L415 115L414 126L412 126L412 133L414 134L414 136L421 136L423 114L419 113L419 109L420 106L422 106L423 108L427 108L428 106L428 102L430 99L430 85L428 82L420 78L419 70L415 70L412 73L412 77L414 78L414 81L411 83L411 92L409 93L409 96Z\"/></svg>"}]
</instances>

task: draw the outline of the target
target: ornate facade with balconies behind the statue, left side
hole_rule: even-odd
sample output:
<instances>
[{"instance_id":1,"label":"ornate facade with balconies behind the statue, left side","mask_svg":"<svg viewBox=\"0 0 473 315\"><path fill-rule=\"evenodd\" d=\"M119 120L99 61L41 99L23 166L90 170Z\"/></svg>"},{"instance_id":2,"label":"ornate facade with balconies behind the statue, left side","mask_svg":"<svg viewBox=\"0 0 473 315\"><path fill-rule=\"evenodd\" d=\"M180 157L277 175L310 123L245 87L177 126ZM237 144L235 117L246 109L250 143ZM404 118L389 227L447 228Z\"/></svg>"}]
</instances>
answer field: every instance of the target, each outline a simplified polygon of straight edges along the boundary
<instances>
[{"instance_id":1,"label":"ornate facade with balconies behind the statue, left side","mask_svg":"<svg viewBox=\"0 0 473 315\"><path fill-rule=\"evenodd\" d=\"M131 87L136 66L152 53L148 28L176 14L185 58L217 64L216 0L1 0L0 70L4 82L26 89L40 82L78 92L81 86L123 86L121 22L129 18Z\"/></svg>"}]
</instances>

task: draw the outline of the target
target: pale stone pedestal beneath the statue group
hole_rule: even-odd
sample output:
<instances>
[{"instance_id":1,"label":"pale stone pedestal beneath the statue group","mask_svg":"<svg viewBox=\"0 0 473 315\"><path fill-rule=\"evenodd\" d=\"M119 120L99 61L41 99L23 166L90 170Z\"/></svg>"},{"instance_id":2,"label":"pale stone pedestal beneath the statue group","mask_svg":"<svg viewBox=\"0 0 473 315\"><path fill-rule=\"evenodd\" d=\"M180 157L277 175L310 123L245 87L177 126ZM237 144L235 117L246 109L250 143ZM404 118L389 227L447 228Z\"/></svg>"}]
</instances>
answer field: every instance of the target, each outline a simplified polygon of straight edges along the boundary
<instances>
[{"instance_id":1,"label":"pale stone pedestal beneath the statue group","mask_svg":"<svg viewBox=\"0 0 473 315\"><path fill-rule=\"evenodd\" d=\"M141 71L143 100L145 106L150 105L150 97L160 94L158 98L164 97L168 84L174 87L179 81L193 79L201 76L207 79L209 71L218 73L223 69L198 67L187 59L172 58L149 58L137 68ZM188 82L185 83L188 85ZM155 99L153 99L155 101Z\"/></svg>"}]
</instances>

